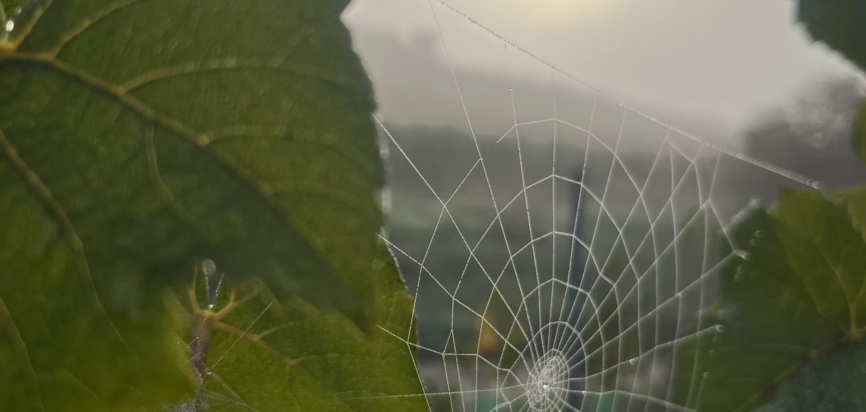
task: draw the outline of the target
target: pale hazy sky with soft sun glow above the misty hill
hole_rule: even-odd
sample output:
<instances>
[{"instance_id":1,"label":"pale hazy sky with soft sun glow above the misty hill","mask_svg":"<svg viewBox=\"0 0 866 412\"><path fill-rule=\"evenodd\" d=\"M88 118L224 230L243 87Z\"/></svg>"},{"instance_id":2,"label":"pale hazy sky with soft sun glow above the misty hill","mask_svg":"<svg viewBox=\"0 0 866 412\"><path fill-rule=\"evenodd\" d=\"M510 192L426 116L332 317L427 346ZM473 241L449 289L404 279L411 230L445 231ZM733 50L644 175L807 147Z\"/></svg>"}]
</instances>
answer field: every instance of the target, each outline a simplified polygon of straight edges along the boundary
<instances>
[{"instance_id":1,"label":"pale hazy sky with soft sun glow above the misty hill","mask_svg":"<svg viewBox=\"0 0 866 412\"><path fill-rule=\"evenodd\" d=\"M731 127L784 104L812 81L854 73L841 58L807 41L793 23L796 3L789 0L448 3L614 99L708 116ZM433 6L440 27L451 20L472 26L436 0ZM344 20L356 33L403 39L436 34L428 0L353 0ZM485 60L489 45L481 39L490 35L472 30L449 46L469 50L452 53L456 66L520 75L520 68Z\"/></svg>"}]
</instances>

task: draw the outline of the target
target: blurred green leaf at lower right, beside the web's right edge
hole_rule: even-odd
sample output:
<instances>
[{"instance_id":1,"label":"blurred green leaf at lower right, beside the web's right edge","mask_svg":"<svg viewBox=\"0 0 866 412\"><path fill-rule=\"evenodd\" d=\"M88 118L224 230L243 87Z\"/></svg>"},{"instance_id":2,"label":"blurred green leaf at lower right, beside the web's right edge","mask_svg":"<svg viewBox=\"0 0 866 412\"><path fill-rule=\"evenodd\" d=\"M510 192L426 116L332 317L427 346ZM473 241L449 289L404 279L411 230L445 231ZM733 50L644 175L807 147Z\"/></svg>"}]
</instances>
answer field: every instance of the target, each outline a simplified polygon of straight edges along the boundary
<instances>
[{"instance_id":1,"label":"blurred green leaf at lower right, beside the web's right edge","mask_svg":"<svg viewBox=\"0 0 866 412\"><path fill-rule=\"evenodd\" d=\"M852 217L863 210L850 211L863 203L850 196L783 189L771 211L754 210L734 229L743 258L723 269L702 322L718 332L677 349L678 402L752 410L805 367L862 343L866 238Z\"/></svg>"}]
</instances>

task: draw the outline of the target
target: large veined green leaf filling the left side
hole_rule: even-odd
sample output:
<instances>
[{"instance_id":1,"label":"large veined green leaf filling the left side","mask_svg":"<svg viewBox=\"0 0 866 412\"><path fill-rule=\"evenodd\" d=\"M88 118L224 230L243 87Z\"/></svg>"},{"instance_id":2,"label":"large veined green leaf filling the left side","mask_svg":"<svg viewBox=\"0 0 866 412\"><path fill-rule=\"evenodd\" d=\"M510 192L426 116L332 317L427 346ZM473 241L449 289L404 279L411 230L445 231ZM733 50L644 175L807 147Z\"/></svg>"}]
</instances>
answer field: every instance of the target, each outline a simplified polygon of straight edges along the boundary
<instances>
[{"instance_id":1,"label":"large veined green leaf filling the left side","mask_svg":"<svg viewBox=\"0 0 866 412\"><path fill-rule=\"evenodd\" d=\"M175 342L191 325L167 291L203 259L378 333L382 166L346 3L46 0L16 17L0 41L0 409L189 398Z\"/></svg>"}]
</instances>

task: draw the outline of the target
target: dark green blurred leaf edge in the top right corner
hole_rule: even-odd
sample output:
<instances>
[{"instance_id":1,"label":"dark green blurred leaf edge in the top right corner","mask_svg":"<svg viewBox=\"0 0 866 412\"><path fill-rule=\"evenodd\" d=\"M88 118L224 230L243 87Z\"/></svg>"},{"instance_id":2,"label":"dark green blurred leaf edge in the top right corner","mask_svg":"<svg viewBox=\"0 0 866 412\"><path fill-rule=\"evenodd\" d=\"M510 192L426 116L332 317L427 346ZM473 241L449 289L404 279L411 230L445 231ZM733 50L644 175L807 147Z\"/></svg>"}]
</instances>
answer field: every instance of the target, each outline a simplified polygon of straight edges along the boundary
<instances>
[{"instance_id":1,"label":"dark green blurred leaf edge in the top right corner","mask_svg":"<svg viewBox=\"0 0 866 412\"><path fill-rule=\"evenodd\" d=\"M866 71L866 3L851 0L799 0L797 18L812 39L841 53Z\"/></svg>"}]
</instances>

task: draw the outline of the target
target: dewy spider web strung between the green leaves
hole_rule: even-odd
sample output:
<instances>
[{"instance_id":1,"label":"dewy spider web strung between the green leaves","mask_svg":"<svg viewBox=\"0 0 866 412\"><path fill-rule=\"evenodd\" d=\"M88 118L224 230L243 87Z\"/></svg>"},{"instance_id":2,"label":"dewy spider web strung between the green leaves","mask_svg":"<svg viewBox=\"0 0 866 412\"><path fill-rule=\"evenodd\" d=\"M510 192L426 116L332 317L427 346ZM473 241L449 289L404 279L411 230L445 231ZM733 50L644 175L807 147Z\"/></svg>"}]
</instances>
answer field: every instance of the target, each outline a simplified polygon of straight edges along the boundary
<instances>
[{"instance_id":1,"label":"dewy spider web strung between the green leaves","mask_svg":"<svg viewBox=\"0 0 866 412\"><path fill-rule=\"evenodd\" d=\"M391 334L416 352L417 396L433 410L695 410L712 376L678 369L677 348L725 332L701 311L721 267L749 258L729 228L772 202L761 188L819 183L606 100L447 3L430 14L465 128L376 119L381 237L416 299L412 332ZM486 31L544 81L462 83L445 27L454 42Z\"/></svg>"}]
</instances>

